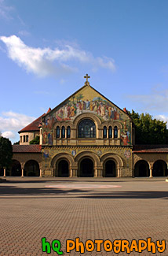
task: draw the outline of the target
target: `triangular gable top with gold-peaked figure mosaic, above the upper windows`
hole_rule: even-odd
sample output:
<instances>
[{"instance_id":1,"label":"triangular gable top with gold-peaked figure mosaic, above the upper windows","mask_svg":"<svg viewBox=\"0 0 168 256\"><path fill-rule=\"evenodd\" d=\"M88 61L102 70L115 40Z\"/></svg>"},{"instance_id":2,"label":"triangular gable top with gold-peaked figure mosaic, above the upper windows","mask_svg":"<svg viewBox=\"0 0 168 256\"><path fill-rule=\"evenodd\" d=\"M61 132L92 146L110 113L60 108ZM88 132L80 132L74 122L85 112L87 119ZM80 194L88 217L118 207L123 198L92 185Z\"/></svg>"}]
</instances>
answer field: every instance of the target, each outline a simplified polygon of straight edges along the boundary
<instances>
[{"instance_id":1,"label":"triangular gable top with gold-peaked figure mosaic, above the upper windows","mask_svg":"<svg viewBox=\"0 0 168 256\"><path fill-rule=\"evenodd\" d=\"M60 105L46 113L44 122L73 121L81 113L94 113L101 121L130 120L113 102L89 85L84 85ZM50 125L49 125L50 126Z\"/></svg>"}]
</instances>

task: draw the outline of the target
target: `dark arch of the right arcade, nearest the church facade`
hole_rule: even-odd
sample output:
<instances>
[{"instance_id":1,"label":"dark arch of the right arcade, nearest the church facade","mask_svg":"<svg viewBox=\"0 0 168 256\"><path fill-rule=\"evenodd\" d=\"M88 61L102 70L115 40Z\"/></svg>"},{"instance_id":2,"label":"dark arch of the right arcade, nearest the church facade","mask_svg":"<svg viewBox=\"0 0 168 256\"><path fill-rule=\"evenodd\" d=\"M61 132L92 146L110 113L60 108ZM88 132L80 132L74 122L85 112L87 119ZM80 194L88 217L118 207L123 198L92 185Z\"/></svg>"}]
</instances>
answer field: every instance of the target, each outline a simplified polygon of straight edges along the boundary
<instances>
[{"instance_id":1,"label":"dark arch of the right arcade, nearest the church facade","mask_svg":"<svg viewBox=\"0 0 168 256\"><path fill-rule=\"evenodd\" d=\"M137 161L134 168L135 177L148 177L149 176L149 165L147 161Z\"/></svg>"}]
</instances>

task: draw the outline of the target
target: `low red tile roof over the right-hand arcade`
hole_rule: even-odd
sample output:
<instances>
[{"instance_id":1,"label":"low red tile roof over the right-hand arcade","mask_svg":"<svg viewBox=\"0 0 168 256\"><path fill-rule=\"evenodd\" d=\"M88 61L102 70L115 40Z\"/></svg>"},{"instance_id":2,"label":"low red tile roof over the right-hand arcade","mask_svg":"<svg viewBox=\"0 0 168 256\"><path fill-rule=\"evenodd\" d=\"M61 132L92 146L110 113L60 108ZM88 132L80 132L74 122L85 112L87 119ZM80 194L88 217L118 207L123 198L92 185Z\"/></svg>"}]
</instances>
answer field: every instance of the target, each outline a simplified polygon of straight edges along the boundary
<instances>
[{"instance_id":1,"label":"low red tile roof over the right-hand arcade","mask_svg":"<svg viewBox=\"0 0 168 256\"><path fill-rule=\"evenodd\" d=\"M168 153L168 145L134 145L133 153Z\"/></svg>"}]
</instances>

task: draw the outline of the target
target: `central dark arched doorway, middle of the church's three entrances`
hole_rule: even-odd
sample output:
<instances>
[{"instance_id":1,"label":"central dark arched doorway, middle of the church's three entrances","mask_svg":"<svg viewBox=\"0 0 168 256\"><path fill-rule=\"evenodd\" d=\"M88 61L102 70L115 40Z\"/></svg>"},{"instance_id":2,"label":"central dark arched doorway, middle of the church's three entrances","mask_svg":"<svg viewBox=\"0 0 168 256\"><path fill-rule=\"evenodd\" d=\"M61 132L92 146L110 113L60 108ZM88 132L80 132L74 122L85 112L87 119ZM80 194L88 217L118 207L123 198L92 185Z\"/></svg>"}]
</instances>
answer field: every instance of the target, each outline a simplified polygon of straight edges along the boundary
<instances>
[{"instance_id":1,"label":"central dark arched doorway, middle of the church's three entrances","mask_svg":"<svg viewBox=\"0 0 168 256\"><path fill-rule=\"evenodd\" d=\"M93 161L89 158L84 158L80 162L80 176L93 177Z\"/></svg>"}]
</instances>

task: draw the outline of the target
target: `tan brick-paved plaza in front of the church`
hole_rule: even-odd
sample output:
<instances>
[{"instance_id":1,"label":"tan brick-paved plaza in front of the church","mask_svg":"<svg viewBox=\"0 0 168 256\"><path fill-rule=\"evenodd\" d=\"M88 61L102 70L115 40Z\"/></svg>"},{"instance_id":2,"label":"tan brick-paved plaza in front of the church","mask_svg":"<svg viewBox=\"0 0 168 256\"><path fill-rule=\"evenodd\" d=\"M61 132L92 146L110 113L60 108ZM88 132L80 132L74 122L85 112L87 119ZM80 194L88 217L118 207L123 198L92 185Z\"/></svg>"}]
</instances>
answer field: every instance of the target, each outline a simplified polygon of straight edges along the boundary
<instances>
[{"instance_id":1,"label":"tan brick-paved plaza in front of the church","mask_svg":"<svg viewBox=\"0 0 168 256\"><path fill-rule=\"evenodd\" d=\"M59 239L166 239L168 183L163 178L20 178L0 184L0 255L42 253L42 237ZM113 255L101 252L86 255ZM126 252L119 253L128 255ZM75 250L71 255L80 255ZM115 254L116 255L116 254ZM141 254L154 255L144 250Z\"/></svg>"}]
</instances>

